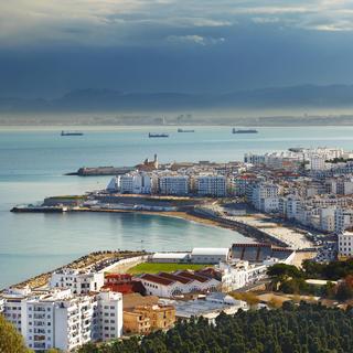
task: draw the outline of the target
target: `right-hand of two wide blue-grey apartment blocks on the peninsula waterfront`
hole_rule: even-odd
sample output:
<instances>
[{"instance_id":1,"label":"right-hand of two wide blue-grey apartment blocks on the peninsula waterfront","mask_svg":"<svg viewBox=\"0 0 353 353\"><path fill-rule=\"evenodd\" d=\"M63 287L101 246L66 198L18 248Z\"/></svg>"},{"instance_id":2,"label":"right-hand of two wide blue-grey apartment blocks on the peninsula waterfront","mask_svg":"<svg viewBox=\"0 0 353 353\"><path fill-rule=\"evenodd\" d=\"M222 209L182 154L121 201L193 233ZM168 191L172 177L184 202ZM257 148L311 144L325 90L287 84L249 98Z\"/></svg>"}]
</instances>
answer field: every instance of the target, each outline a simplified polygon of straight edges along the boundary
<instances>
[{"instance_id":1,"label":"right-hand of two wide blue-grey apartment blocks on the peninsula waterfront","mask_svg":"<svg viewBox=\"0 0 353 353\"><path fill-rule=\"evenodd\" d=\"M227 195L227 178L225 175L197 176L196 185L200 196L224 197Z\"/></svg>"}]
</instances>

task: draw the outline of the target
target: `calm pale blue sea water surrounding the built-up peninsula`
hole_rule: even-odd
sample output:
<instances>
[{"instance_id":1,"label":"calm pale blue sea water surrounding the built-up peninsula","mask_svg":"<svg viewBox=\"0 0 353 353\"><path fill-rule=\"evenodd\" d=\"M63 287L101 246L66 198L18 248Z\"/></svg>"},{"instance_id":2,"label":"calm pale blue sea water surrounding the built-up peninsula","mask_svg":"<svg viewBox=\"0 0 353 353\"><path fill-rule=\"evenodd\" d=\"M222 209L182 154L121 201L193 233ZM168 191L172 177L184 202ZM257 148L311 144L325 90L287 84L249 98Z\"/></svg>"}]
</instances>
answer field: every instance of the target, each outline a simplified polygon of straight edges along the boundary
<instances>
[{"instance_id":1,"label":"calm pale blue sea water surrounding the built-up peninsula","mask_svg":"<svg viewBox=\"0 0 353 353\"><path fill-rule=\"evenodd\" d=\"M64 176L82 165L131 165L158 153L168 161L233 161L245 152L289 147L336 146L353 149L352 127L259 128L232 135L228 127L83 130L60 137L60 129L0 130L0 288L63 265L96 249L181 250L228 246L236 232L183 220L138 214L12 214L19 203L49 195L100 189L109 178ZM149 139L148 131L170 132Z\"/></svg>"}]
</instances>

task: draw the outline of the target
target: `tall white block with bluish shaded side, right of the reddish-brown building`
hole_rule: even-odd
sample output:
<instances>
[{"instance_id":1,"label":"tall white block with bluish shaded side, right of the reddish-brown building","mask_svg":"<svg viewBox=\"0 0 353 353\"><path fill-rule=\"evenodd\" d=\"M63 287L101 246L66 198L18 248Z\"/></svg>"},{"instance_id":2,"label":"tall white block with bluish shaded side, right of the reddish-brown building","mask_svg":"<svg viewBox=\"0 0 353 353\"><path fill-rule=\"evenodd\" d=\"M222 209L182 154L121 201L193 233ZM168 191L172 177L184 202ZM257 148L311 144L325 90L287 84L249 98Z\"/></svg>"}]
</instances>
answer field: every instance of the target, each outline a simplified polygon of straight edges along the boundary
<instances>
[{"instance_id":1,"label":"tall white block with bluish shaded side, right of the reddish-brown building","mask_svg":"<svg viewBox=\"0 0 353 353\"><path fill-rule=\"evenodd\" d=\"M250 202L256 210L265 213L278 212L279 186L268 182L261 182L253 186Z\"/></svg>"}]
</instances>

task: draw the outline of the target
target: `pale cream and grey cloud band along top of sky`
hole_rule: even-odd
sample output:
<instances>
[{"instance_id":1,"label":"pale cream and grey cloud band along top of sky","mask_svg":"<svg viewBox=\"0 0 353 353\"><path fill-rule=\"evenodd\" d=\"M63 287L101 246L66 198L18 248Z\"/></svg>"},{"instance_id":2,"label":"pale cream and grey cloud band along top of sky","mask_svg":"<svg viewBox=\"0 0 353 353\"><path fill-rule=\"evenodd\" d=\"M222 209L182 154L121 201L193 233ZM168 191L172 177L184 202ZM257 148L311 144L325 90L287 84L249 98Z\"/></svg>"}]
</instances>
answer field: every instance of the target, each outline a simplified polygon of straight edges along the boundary
<instances>
[{"instance_id":1,"label":"pale cream and grey cloud band along top of sky","mask_svg":"<svg viewBox=\"0 0 353 353\"><path fill-rule=\"evenodd\" d=\"M342 32L352 18L352 0L11 0L0 1L0 46L158 45L173 35L208 45L235 25ZM203 40L190 39L193 29Z\"/></svg>"}]
</instances>

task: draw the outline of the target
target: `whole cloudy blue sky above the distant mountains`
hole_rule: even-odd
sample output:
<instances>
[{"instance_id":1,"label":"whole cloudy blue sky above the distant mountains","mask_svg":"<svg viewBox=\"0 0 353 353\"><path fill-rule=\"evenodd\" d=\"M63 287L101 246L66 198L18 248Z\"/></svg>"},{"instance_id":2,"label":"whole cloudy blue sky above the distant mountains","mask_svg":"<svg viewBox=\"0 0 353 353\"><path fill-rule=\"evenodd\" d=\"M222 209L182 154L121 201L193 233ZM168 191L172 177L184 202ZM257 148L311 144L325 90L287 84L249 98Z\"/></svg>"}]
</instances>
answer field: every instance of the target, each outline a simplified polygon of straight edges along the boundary
<instances>
[{"instance_id":1,"label":"whole cloudy blue sky above the distant mountains","mask_svg":"<svg viewBox=\"0 0 353 353\"><path fill-rule=\"evenodd\" d=\"M0 1L0 97L352 84L353 1Z\"/></svg>"}]
</instances>

